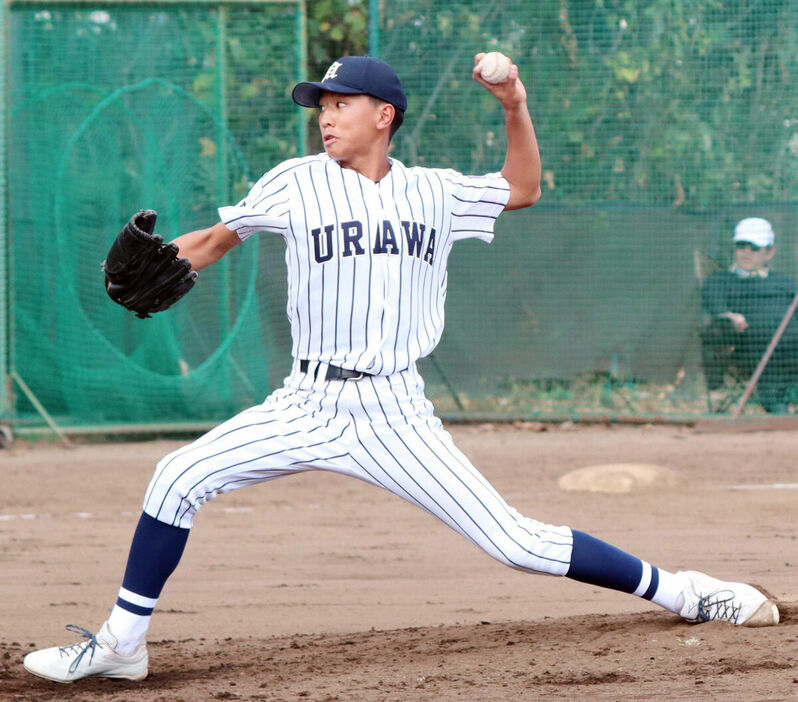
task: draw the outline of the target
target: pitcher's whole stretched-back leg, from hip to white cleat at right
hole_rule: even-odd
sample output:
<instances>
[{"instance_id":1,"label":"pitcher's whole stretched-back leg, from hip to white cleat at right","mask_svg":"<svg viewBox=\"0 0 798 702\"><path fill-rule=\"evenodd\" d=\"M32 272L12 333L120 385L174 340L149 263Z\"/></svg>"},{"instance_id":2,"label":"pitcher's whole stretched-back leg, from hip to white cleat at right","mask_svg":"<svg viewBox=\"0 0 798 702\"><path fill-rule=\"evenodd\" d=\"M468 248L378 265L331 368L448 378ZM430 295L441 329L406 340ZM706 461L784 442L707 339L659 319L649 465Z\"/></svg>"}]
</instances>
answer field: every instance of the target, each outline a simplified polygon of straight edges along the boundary
<instances>
[{"instance_id":1,"label":"pitcher's whole stretched-back leg, from hip to white cleat at right","mask_svg":"<svg viewBox=\"0 0 798 702\"><path fill-rule=\"evenodd\" d=\"M395 379L386 381L390 385ZM670 573L584 532L522 516L457 449L431 407L423 405L426 401L414 398L412 413L402 386L386 390L377 380L358 388L361 403L352 426L358 450L352 455L368 466L371 476L379 476L383 487L497 560L634 594L688 621L778 623L776 605L749 585L695 571Z\"/></svg>"}]
</instances>

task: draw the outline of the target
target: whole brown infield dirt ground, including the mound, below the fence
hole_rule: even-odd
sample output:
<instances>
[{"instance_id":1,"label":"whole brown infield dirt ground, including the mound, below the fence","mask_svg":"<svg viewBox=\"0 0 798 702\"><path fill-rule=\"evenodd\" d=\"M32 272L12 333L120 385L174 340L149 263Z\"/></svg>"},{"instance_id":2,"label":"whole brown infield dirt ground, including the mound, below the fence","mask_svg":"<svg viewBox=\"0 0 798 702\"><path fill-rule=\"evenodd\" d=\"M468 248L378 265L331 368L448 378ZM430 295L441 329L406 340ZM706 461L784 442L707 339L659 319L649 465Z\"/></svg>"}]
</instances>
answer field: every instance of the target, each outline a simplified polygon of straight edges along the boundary
<instances>
[{"instance_id":1,"label":"whole brown infield dirt ground, including the mound, below the fence","mask_svg":"<svg viewBox=\"0 0 798 702\"><path fill-rule=\"evenodd\" d=\"M99 628L154 464L184 442L17 441L0 450L0 699L798 699L798 432L450 431L527 516L668 570L755 584L782 623L695 626L629 595L513 571L388 493L313 473L203 508L153 618L147 680L58 685L28 675L23 655L73 641L66 624ZM663 466L682 482L557 486L609 463Z\"/></svg>"}]
</instances>

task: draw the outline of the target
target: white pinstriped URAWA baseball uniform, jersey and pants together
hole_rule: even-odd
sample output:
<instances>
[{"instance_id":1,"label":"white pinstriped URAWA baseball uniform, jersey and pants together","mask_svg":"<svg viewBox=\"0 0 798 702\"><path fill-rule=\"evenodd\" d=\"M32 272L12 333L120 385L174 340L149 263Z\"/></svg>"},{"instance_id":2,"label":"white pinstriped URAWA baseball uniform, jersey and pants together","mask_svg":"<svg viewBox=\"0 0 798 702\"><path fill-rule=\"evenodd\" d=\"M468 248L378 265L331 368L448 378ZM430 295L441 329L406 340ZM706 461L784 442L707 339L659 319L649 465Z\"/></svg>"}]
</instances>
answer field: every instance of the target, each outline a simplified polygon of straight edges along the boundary
<instances>
[{"instance_id":1,"label":"white pinstriped URAWA baseball uniform, jersey and pants together","mask_svg":"<svg viewBox=\"0 0 798 702\"><path fill-rule=\"evenodd\" d=\"M189 528L218 493L331 470L418 505L507 565L565 574L571 530L507 505L434 416L415 365L443 331L452 245L491 241L509 192L499 173L396 160L375 183L321 154L280 164L220 208L242 239L285 239L293 369L263 404L161 460L144 511ZM367 375L327 380L328 366Z\"/></svg>"}]
</instances>

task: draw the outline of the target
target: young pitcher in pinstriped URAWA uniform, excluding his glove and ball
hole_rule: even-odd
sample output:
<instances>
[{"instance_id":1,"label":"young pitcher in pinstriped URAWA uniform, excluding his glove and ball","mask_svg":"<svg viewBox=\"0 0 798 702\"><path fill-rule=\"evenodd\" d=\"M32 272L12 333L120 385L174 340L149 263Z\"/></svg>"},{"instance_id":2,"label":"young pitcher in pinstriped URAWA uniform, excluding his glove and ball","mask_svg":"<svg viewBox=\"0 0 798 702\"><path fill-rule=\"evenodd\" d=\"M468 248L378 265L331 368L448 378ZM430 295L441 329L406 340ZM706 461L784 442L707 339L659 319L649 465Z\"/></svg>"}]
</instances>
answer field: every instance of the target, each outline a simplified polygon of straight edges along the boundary
<instances>
[{"instance_id":1,"label":"young pitcher in pinstriped URAWA uniform, excluding his glove and ball","mask_svg":"<svg viewBox=\"0 0 798 702\"><path fill-rule=\"evenodd\" d=\"M645 597L689 621L778 622L748 585L669 573L564 526L519 514L454 446L424 397L416 360L443 329L453 244L490 241L505 209L540 197L540 158L527 95L513 66L500 84L473 78L501 103L500 173L407 168L388 156L407 107L402 84L370 57L335 61L293 98L319 109L324 154L281 163L221 221L176 239L195 269L256 232L286 243L293 369L284 386L159 462L144 498L116 605L99 633L35 651L25 667L60 682L139 680L145 634L194 516L217 494L299 471L358 477L438 517L501 563Z\"/></svg>"}]
</instances>

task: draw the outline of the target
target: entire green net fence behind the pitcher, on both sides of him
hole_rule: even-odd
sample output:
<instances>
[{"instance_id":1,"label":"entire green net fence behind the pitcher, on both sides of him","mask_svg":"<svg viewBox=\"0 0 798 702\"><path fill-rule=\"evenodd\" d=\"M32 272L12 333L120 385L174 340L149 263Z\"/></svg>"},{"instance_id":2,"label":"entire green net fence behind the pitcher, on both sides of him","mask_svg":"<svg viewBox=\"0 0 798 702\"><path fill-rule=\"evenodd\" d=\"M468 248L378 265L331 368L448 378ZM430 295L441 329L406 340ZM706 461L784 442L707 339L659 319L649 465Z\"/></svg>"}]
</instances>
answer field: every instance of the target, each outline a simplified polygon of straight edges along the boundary
<instances>
[{"instance_id":1,"label":"entire green net fence behind the pitcher, on both sides of him","mask_svg":"<svg viewBox=\"0 0 798 702\"><path fill-rule=\"evenodd\" d=\"M439 411L709 412L700 291L732 262L735 222L767 217L773 268L798 275L798 6L370 7L371 50L409 98L395 157L501 168L501 110L470 78L480 50L518 63L543 157L541 202L502 215L492 245L452 254L447 329L422 361ZM279 238L234 250L150 320L109 302L99 266L134 210L158 210L167 239L207 226L275 162L318 143L290 100L305 73L303 8L4 6L0 419L198 425L280 383L290 343ZM741 378L727 378L732 400ZM762 411L756 398L746 408Z\"/></svg>"}]
</instances>

